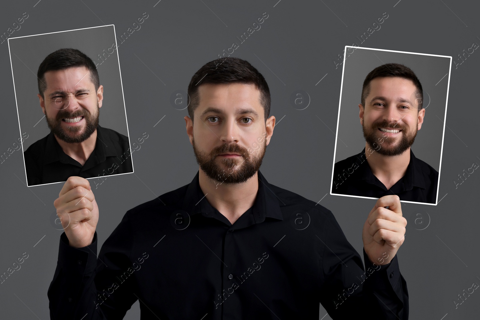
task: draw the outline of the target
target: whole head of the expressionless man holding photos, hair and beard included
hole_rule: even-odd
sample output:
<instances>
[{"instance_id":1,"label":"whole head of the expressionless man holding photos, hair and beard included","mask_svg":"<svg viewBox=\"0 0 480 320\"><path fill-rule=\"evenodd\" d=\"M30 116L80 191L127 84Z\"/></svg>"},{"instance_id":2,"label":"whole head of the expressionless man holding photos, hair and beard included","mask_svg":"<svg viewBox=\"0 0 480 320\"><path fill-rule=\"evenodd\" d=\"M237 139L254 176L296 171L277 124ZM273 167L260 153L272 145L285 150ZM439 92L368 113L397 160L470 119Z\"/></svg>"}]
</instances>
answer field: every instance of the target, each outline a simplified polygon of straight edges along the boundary
<instances>
[{"instance_id":1,"label":"whole head of the expressionless man holding photos, hair and beard included","mask_svg":"<svg viewBox=\"0 0 480 320\"><path fill-rule=\"evenodd\" d=\"M217 59L193 75L188 94L187 134L202 171L222 183L252 178L275 126L262 74L245 60Z\"/></svg>"}]
</instances>

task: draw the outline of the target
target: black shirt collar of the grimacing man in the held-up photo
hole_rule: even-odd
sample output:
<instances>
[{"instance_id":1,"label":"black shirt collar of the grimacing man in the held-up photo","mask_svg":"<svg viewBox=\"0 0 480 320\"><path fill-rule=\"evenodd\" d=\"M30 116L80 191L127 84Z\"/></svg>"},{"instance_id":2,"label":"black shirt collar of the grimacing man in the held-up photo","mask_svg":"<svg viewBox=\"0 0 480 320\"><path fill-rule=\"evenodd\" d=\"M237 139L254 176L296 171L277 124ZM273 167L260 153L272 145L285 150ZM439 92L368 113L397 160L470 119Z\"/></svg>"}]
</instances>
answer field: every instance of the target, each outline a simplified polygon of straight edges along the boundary
<instances>
[{"instance_id":1,"label":"black shirt collar of the grimacing man in the held-up photo","mask_svg":"<svg viewBox=\"0 0 480 320\"><path fill-rule=\"evenodd\" d=\"M95 154L98 158L98 162L105 161L108 156L116 156L118 152L115 150L114 143L111 141L108 133L105 132L105 129L98 125L96 127L96 143L95 143ZM55 139L53 132L47 136L47 145L45 147L45 164L52 162L60 161L61 163L70 163L70 156L65 154Z\"/></svg>"}]
</instances>

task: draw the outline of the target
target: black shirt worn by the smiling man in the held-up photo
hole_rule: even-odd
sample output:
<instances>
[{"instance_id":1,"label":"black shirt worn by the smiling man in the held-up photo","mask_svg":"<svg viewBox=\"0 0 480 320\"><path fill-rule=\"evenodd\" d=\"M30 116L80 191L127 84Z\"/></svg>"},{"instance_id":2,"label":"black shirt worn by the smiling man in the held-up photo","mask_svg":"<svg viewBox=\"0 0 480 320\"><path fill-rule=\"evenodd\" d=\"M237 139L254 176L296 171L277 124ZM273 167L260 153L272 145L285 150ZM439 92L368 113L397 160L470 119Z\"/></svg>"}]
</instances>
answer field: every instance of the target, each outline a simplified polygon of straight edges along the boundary
<instances>
[{"instance_id":1,"label":"black shirt worn by the smiling man in the held-up photo","mask_svg":"<svg viewBox=\"0 0 480 320\"><path fill-rule=\"evenodd\" d=\"M416 158L410 148L410 162L405 175L387 189L373 175L363 148L360 154L335 164L332 193L371 198L396 194L404 201L435 203L437 185L438 172L426 162Z\"/></svg>"}]
</instances>

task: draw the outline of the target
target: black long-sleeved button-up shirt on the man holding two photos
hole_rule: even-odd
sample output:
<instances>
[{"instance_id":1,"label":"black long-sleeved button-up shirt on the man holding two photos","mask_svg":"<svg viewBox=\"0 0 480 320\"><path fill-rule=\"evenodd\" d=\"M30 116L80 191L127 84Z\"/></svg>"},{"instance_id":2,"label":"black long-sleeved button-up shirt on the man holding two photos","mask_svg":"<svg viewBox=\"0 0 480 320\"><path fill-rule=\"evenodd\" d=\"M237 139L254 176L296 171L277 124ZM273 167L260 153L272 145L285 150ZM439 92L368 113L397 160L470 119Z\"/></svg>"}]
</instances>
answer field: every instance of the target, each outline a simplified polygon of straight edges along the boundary
<instances>
[{"instance_id":1,"label":"black long-sleeved button-up shirt on the man holding two photos","mask_svg":"<svg viewBox=\"0 0 480 320\"><path fill-rule=\"evenodd\" d=\"M63 233L51 319L122 319L137 299L142 320L318 320L319 303L333 319L408 319L397 257L373 265L363 251L365 271L329 210L258 171L254 204L232 225L198 177L127 211L98 259L96 233L79 249Z\"/></svg>"}]
</instances>

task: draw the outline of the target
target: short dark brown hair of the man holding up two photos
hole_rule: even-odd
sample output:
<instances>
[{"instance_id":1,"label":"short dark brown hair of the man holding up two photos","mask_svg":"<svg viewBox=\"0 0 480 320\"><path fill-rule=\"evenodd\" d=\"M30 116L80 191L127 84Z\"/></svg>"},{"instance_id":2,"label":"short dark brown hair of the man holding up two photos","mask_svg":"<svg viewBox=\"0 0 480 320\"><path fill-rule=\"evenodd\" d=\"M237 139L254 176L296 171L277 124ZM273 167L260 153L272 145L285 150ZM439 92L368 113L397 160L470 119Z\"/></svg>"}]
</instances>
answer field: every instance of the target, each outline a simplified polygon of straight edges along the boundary
<instances>
[{"instance_id":1,"label":"short dark brown hair of the man holding up two photos","mask_svg":"<svg viewBox=\"0 0 480 320\"><path fill-rule=\"evenodd\" d=\"M260 103L264 107L265 122L270 114L270 90L264 76L248 61L239 58L219 58L205 63L192 77L188 85L188 115L193 122L193 112L200 103L198 86L206 83L253 84L260 91Z\"/></svg>"}]
</instances>

